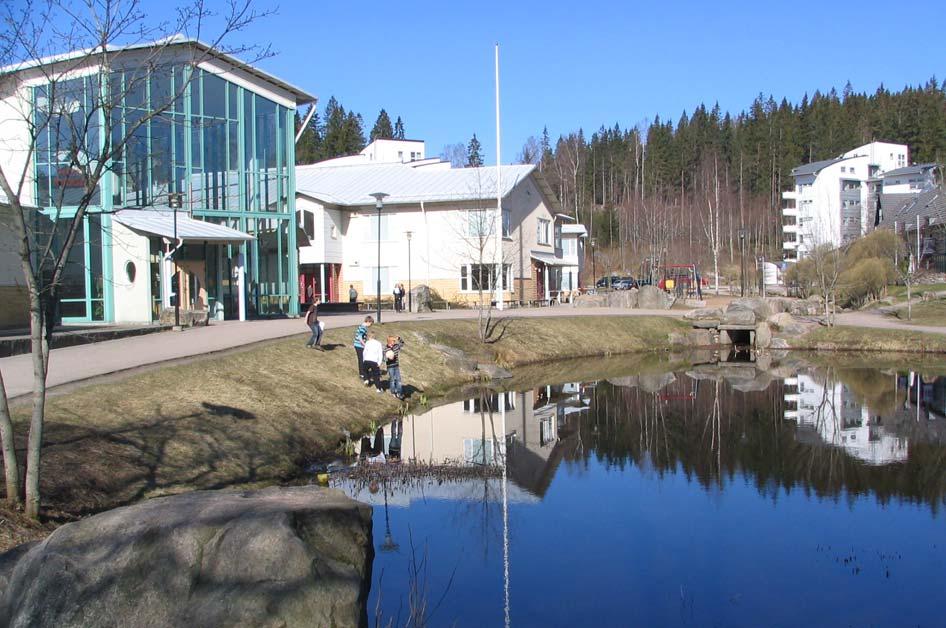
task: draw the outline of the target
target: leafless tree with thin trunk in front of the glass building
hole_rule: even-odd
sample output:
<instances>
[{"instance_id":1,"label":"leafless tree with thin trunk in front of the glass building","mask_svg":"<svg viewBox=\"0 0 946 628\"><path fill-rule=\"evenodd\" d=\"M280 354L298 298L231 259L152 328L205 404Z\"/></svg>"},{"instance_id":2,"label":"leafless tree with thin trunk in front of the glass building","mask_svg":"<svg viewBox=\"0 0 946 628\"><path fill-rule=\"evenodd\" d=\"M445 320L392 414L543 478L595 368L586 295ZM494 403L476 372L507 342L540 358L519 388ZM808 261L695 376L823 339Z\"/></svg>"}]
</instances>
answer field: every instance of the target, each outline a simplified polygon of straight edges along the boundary
<instances>
[{"instance_id":1,"label":"leafless tree with thin trunk in front of the glass building","mask_svg":"<svg viewBox=\"0 0 946 628\"><path fill-rule=\"evenodd\" d=\"M8 3L0 11L0 54L12 64L0 71L0 94L17 103L10 107L13 118L5 122L19 130L19 137L3 146L12 158L0 163L0 192L5 196L0 200L11 214L29 296L33 408L24 497L27 515L35 518L40 509L49 343L64 273L67 264L74 263L70 257L77 234L90 210L102 204L106 178L128 174L130 166L126 164L124 172L118 166L126 147L140 140L150 121L163 119L181 102L194 68L221 53L249 56L248 62L269 55L268 49L229 45L235 33L267 11L256 11L251 0L228 0L218 13L197 0L179 7L173 22L158 24L145 13L141 0L45 0ZM150 108L127 106L153 77L169 73L179 80L166 93L151 94ZM57 162L48 198L32 194L38 149L54 151ZM6 399L2 381L0 395ZM7 446L12 425L5 403L0 405L0 427L7 499L18 502L19 464Z\"/></svg>"}]
</instances>

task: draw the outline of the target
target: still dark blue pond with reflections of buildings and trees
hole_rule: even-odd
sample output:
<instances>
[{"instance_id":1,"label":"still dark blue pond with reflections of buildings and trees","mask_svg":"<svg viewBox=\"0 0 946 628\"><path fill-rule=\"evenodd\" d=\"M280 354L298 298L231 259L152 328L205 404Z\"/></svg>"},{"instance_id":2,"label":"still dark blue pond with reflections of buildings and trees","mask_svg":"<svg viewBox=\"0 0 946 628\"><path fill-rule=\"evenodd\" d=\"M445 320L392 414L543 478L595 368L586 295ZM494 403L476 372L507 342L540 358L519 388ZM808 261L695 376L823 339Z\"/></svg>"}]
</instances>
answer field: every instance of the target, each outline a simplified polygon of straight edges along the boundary
<instances>
[{"instance_id":1,"label":"still dark blue pond with reflections of buildings and trees","mask_svg":"<svg viewBox=\"0 0 946 628\"><path fill-rule=\"evenodd\" d=\"M373 625L943 625L946 377L694 366L376 436L330 480L375 507Z\"/></svg>"}]
</instances>

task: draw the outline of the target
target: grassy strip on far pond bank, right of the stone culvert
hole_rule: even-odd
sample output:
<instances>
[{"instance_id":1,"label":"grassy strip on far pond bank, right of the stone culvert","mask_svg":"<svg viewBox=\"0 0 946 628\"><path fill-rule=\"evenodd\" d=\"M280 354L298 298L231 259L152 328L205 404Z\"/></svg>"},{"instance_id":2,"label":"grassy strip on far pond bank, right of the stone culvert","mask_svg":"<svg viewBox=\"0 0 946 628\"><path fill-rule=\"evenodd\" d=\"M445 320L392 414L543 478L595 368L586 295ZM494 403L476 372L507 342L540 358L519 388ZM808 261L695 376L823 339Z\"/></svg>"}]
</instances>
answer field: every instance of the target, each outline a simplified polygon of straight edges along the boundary
<instances>
[{"instance_id":1,"label":"grassy strip on far pond bank, right of the stone culvert","mask_svg":"<svg viewBox=\"0 0 946 628\"><path fill-rule=\"evenodd\" d=\"M821 327L792 338L793 349L889 353L946 353L946 335L900 329Z\"/></svg>"}]
</instances>

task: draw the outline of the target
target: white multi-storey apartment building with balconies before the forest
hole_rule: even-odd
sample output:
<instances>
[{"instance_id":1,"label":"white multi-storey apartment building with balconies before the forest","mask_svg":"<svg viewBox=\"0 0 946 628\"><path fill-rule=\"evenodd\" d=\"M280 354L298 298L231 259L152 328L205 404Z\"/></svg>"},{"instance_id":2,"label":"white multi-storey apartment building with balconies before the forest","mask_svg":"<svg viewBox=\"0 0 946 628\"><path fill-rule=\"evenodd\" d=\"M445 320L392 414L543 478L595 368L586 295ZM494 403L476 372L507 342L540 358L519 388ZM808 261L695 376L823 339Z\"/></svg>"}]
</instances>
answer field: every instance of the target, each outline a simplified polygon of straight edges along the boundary
<instances>
[{"instance_id":1,"label":"white multi-storey apartment building with balconies before the forest","mask_svg":"<svg viewBox=\"0 0 946 628\"><path fill-rule=\"evenodd\" d=\"M906 145L872 142L792 170L795 187L782 193L785 259L794 262L818 245L841 246L870 231L884 173L908 164Z\"/></svg>"}]
</instances>

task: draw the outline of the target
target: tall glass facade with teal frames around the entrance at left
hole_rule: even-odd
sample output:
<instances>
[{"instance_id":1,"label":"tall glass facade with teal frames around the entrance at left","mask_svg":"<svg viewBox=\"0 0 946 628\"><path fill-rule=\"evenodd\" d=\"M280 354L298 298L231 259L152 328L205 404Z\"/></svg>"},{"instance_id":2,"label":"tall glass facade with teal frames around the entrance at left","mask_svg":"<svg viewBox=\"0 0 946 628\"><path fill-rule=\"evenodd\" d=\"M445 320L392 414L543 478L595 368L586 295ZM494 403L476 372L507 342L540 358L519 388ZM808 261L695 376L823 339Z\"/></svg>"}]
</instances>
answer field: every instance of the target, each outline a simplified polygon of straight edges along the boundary
<instances>
[{"instance_id":1,"label":"tall glass facade with teal frames around the entrance at left","mask_svg":"<svg viewBox=\"0 0 946 628\"><path fill-rule=\"evenodd\" d=\"M298 314L295 110L225 76L184 64L130 67L107 80L94 74L32 88L34 122L44 129L35 146L34 198L52 224L74 216L87 193L87 178L77 171L86 163L77 156L83 142L97 155L130 137L112 152L70 251L60 291L65 322L115 320L111 214L166 210L172 195L180 195L179 211L190 217L255 238L187 242L175 254L204 264L208 309L219 303L227 318L236 318L233 277L243 262L247 316ZM85 129L79 140L77 128ZM161 246L152 243L153 262ZM151 273L158 267L152 263ZM154 292L159 282L152 277L151 283Z\"/></svg>"}]
</instances>

